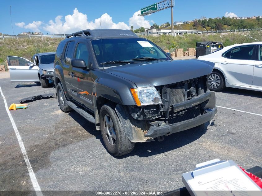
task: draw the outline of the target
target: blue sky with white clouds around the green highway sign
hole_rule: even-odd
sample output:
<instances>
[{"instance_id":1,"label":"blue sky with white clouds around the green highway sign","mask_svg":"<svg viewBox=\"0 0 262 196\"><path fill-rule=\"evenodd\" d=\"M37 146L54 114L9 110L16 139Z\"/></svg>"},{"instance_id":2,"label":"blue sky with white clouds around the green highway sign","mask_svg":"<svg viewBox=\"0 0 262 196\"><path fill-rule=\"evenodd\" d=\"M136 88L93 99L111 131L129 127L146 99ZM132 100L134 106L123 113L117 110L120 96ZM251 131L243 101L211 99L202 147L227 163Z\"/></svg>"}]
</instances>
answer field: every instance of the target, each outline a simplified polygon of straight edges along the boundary
<instances>
[{"instance_id":1,"label":"blue sky with white clouds around the green highway sign","mask_svg":"<svg viewBox=\"0 0 262 196\"><path fill-rule=\"evenodd\" d=\"M131 26L149 28L153 23L171 23L171 9L144 17L140 9L160 0L10 0L1 1L0 33L13 35L21 32L44 34L73 33L83 29L130 29ZM11 17L10 17L11 6ZM261 0L175 0L174 21L194 20L201 17L262 15ZM12 23L11 23L12 20Z\"/></svg>"}]
</instances>

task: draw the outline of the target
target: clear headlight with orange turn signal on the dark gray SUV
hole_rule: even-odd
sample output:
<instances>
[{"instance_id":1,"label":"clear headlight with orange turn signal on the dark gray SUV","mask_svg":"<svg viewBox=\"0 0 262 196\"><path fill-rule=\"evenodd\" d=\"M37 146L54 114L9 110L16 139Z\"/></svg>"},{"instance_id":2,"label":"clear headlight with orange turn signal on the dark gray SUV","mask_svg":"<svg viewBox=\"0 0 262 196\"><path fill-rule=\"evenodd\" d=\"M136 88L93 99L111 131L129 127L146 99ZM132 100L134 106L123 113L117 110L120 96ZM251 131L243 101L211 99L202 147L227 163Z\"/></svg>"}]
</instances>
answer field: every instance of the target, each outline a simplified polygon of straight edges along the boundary
<instances>
[{"instance_id":1,"label":"clear headlight with orange turn signal on the dark gray SUV","mask_svg":"<svg viewBox=\"0 0 262 196\"><path fill-rule=\"evenodd\" d=\"M162 104L158 91L155 87L130 89L137 106Z\"/></svg>"}]
</instances>

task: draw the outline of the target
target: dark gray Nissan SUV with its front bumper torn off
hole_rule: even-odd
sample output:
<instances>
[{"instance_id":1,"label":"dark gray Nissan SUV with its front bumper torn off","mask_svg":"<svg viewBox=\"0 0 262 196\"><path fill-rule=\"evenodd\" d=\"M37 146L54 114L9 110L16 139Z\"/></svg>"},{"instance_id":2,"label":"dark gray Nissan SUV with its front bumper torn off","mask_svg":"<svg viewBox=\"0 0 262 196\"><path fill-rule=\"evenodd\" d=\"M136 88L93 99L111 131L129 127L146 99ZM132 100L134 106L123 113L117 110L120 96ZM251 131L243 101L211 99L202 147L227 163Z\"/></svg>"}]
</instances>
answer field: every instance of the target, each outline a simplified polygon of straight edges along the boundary
<instances>
[{"instance_id":1,"label":"dark gray Nissan SUV with its front bumper torn off","mask_svg":"<svg viewBox=\"0 0 262 196\"><path fill-rule=\"evenodd\" d=\"M216 114L207 76L214 63L172 60L130 30L83 30L56 50L54 83L62 111L77 111L101 130L107 150L125 155L199 125Z\"/></svg>"}]
</instances>

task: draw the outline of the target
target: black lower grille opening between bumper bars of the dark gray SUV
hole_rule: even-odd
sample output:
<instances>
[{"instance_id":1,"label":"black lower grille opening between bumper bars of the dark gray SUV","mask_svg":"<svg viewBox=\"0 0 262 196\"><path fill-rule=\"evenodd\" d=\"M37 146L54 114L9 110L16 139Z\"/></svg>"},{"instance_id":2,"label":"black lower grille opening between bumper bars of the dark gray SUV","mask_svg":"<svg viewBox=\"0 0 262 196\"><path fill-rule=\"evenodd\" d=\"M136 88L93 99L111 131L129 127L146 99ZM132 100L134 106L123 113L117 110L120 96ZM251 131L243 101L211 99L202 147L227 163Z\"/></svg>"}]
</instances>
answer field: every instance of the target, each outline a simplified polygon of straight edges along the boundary
<instances>
[{"instance_id":1,"label":"black lower grille opening between bumper bars of the dark gray SUV","mask_svg":"<svg viewBox=\"0 0 262 196\"><path fill-rule=\"evenodd\" d=\"M168 119L168 123L173 124L173 123L178 123L184 120L189 120L192 118L195 118L197 116L201 115L201 108L200 106L197 107L191 107L187 110L180 111L176 114L173 115L172 118Z\"/></svg>"}]
</instances>

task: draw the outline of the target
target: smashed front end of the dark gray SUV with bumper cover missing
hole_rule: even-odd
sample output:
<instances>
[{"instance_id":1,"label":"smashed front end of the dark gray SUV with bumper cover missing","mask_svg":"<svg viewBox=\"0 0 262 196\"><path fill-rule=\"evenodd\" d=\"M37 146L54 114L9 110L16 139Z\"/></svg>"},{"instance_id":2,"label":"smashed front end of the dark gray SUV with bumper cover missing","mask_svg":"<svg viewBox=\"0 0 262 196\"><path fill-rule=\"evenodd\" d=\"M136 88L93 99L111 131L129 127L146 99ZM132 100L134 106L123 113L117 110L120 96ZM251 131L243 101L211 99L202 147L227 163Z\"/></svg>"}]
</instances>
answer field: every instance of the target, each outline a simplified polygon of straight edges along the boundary
<instances>
[{"instance_id":1,"label":"smashed front end of the dark gray SUV with bumper cover missing","mask_svg":"<svg viewBox=\"0 0 262 196\"><path fill-rule=\"evenodd\" d=\"M207 76L155 86L162 104L116 106L131 142L147 142L210 122L216 114L215 93L207 88Z\"/></svg>"}]
</instances>

